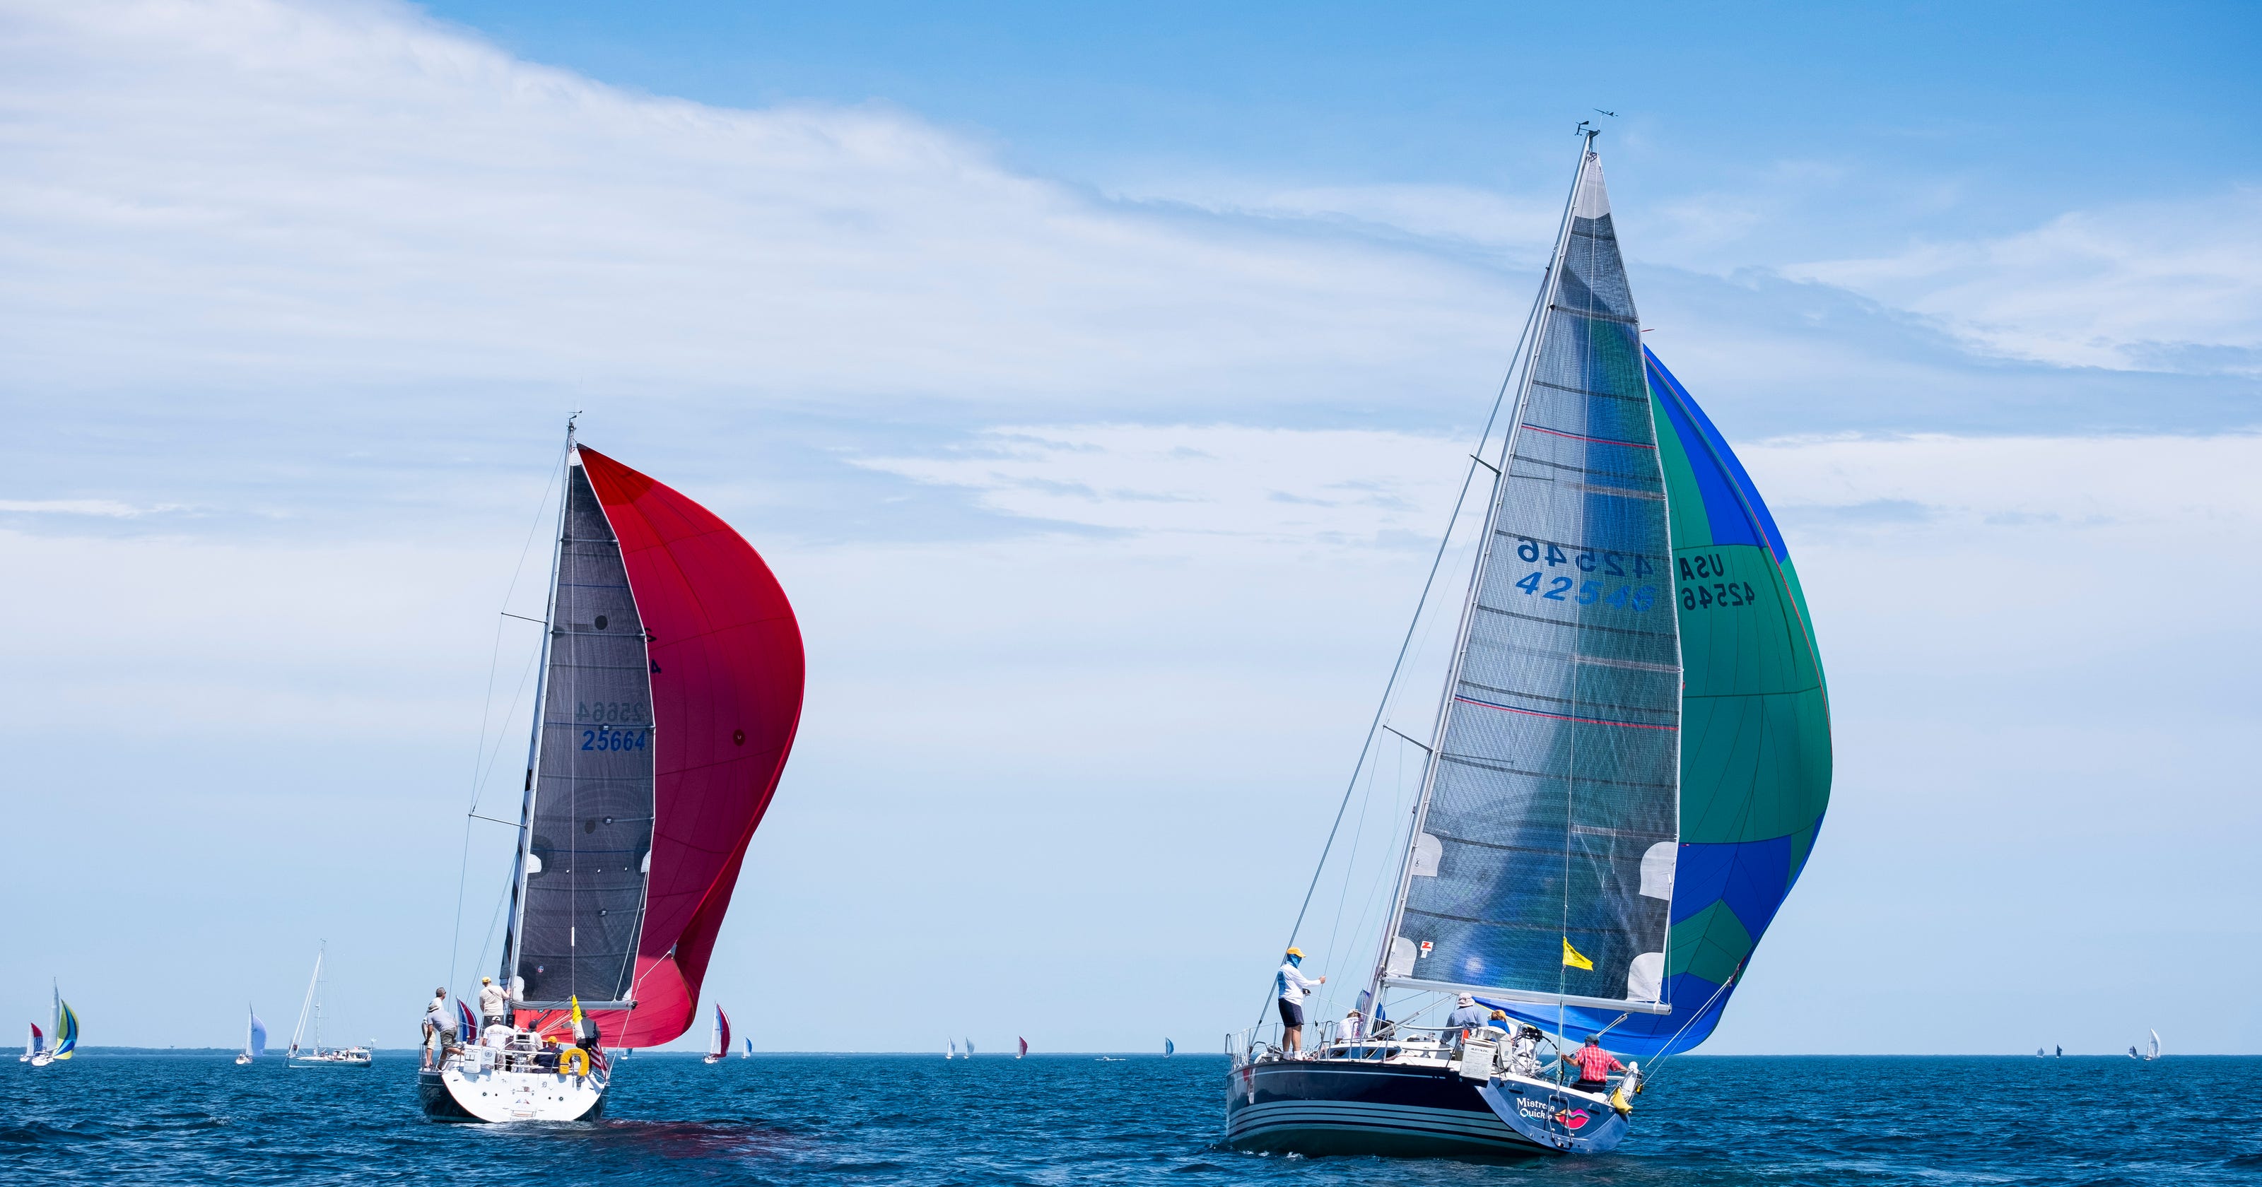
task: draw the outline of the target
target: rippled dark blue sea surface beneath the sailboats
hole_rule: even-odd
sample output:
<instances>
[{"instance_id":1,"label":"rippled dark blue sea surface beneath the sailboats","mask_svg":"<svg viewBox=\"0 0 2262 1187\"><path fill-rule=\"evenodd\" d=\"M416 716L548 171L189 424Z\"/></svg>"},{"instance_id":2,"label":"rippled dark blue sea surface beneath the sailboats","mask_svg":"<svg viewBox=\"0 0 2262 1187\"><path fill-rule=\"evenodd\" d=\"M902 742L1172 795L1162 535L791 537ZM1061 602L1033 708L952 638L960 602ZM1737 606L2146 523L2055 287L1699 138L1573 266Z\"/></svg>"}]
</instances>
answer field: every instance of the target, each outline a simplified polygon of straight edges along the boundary
<instances>
[{"instance_id":1,"label":"rippled dark blue sea surface beneath the sailboats","mask_svg":"<svg viewBox=\"0 0 2262 1187\"><path fill-rule=\"evenodd\" d=\"M1617 1153L1448 1162L1217 1146L1224 1056L636 1056L604 1121L416 1110L371 1069L88 1051L0 1065L0 1182L2262 1182L2262 1058L1678 1058Z\"/></svg>"}]
</instances>

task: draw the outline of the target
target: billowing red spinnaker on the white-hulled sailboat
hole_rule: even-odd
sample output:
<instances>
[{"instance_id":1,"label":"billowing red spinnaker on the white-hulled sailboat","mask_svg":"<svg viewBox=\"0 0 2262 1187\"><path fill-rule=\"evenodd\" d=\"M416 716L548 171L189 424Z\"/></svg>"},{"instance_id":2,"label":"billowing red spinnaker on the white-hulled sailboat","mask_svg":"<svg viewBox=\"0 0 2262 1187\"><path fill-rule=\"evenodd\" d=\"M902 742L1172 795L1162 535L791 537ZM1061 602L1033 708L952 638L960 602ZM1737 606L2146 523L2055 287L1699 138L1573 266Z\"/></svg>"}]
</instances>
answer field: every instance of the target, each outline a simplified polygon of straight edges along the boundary
<instances>
[{"instance_id":1,"label":"billowing red spinnaker on the white-hulled sailboat","mask_svg":"<svg viewBox=\"0 0 2262 1187\"><path fill-rule=\"evenodd\" d=\"M651 633L656 726L636 1008L593 1017L611 1047L658 1047L699 1013L737 868L794 748L801 624L762 556L713 511L586 445L581 466Z\"/></svg>"}]
</instances>

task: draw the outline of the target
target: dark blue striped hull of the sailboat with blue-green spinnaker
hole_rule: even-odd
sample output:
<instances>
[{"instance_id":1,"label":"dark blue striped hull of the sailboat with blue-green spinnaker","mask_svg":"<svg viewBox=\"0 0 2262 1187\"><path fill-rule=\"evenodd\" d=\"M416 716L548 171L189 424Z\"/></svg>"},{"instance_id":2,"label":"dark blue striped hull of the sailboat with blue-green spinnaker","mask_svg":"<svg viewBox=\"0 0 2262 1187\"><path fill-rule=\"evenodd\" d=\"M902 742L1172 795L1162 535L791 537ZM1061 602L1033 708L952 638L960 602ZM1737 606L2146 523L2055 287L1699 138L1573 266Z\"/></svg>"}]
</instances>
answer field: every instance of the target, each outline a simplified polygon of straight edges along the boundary
<instances>
[{"instance_id":1,"label":"dark blue striped hull of the sailboat with blue-green spinnaker","mask_svg":"<svg viewBox=\"0 0 2262 1187\"><path fill-rule=\"evenodd\" d=\"M1226 1078L1226 1144L1276 1153L1525 1158L1601 1153L1626 1119L1581 1094L1527 1081L1464 1081L1452 1067L1289 1060Z\"/></svg>"}]
</instances>

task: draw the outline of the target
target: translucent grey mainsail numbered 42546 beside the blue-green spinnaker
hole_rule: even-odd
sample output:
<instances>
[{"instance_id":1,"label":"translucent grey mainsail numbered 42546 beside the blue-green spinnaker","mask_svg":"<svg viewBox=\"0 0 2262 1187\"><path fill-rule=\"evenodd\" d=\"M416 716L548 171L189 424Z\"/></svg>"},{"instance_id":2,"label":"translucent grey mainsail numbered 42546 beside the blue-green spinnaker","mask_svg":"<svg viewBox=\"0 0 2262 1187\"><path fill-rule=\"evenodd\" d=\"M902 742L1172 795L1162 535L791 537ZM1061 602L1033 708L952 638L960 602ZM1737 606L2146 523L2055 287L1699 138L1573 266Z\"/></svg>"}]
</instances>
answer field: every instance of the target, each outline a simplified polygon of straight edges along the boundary
<instances>
[{"instance_id":1,"label":"translucent grey mainsail numbered 42546 beside the blue-green spinnaker","mask_svg":"<svg viewBox=\"0 0 2262 1187\"><path fill-rule=\"evenodd\" d=\"M1384 981L1663 1013L1681 642L1640 321L1592 142L1547 285Z\"/></svg>"}]
</instances>

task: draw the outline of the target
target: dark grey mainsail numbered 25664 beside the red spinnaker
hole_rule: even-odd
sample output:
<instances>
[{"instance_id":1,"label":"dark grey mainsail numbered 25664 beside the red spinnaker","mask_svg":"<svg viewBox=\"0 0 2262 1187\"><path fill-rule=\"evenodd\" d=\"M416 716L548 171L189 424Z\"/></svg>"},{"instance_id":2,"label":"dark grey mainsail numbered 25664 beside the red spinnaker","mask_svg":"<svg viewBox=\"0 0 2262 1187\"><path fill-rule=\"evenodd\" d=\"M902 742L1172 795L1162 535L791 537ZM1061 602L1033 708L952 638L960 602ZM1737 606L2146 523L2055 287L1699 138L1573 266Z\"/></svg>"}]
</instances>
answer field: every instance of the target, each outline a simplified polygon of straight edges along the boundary
<instances>
[{"instance_id":1,"label":"dark grey mainsail numbered 25664 beside the red spinnaker","mask_svg":"<svg viewBox=\"0 0 2262 1187\"><path fill-rule=\"evenodd\" d=\"M633 999L651 855L651 658L620 540L568 450L541 739L504 977L523 1006Z\"/></svg>"}]
</instances>

